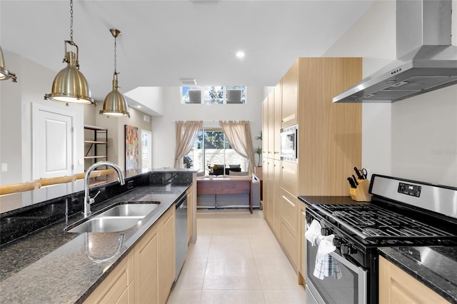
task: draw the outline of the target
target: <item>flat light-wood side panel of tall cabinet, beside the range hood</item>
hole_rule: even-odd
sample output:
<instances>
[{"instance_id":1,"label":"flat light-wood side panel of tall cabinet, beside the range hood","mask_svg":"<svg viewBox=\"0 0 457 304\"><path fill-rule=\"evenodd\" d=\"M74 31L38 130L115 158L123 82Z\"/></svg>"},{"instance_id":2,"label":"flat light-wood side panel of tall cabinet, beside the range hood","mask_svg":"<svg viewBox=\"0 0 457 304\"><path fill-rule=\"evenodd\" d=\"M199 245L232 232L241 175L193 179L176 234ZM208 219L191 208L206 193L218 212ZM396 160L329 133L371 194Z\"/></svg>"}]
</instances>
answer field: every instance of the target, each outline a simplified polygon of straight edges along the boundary
<instances>
[{"instance_id":1,"label":"flat light-wood side panel of tall cabinet, beside the range hood","mask_svg":"<svg viewBox=\"0 0 457 304\"><path fill-rule=\"evenodd\" d=\"M348 196L347 177L361 166L362 109L332 98L361 79L361 58L297 62L299 194Z\"/></svg>"}]
</instances>

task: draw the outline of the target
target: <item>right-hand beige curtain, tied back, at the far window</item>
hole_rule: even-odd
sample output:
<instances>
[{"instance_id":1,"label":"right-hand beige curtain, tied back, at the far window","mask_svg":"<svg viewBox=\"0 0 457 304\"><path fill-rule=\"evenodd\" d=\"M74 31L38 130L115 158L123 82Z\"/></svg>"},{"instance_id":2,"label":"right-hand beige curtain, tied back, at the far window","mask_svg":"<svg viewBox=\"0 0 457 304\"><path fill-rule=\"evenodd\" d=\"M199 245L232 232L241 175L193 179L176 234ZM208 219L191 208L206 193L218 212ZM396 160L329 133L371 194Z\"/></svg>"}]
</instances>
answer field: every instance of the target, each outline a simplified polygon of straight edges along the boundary
<instances>
[{"instance_id":1,"label":"right-hand beige curtain, tied back, at the far window","mask_svg":"<svg viewBox=\"0 0 457 304\"><path fill-rule=\"evenodd\" d=\"M254 153L249 121L219 121L227 140L235 151L248 158L248 173L254 172Z\"/></svg>"}]
</instances>

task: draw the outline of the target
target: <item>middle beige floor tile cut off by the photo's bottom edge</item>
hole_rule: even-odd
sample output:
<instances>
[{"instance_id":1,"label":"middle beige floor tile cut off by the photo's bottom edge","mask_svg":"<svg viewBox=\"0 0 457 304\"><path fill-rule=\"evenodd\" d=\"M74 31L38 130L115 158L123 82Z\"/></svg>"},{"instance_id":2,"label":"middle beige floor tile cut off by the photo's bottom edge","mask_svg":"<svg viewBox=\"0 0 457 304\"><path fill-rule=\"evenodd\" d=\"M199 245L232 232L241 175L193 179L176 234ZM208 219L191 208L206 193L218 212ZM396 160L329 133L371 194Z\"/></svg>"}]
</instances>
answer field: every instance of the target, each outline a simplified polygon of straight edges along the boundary
<instances>
[{"instance_id":1,"label":"middle beige floor tile cut off by the photo's bottom edge","mask_svg":"<svg viewBox=\"0 0 457 304\"><path fill-rule=\"evenodd\" d=\"M262 290L203 290L201 304L264 304Z\"/></svg>"}]
</instances>

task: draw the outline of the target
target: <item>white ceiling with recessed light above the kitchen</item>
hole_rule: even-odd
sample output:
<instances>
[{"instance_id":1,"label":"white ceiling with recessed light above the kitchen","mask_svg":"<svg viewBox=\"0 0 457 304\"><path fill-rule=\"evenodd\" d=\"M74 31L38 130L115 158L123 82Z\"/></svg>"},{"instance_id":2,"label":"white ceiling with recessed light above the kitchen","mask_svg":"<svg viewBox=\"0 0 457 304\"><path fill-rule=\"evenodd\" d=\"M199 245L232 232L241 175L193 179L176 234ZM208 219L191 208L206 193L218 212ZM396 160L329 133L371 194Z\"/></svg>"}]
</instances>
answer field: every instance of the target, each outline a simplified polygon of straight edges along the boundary
<instances>
[{"instance_id":1,"label":"white ceiling with recessed light above the kitchen","mask_svg":"<svg viewBox=\"0 0 457 304\"><path fill-rule=\"evenodd\" d=\"M200 86L274 86L296 58L322 56L373 2L74 0L74 42L96 100L111 91L111 28L122 32L117 70L123 93L181 86L180 78ZM69 10L67 0L0 0L2 49L63 69ZM238 50L243 59L236 58Z\"/></svg>"}]
</instances>

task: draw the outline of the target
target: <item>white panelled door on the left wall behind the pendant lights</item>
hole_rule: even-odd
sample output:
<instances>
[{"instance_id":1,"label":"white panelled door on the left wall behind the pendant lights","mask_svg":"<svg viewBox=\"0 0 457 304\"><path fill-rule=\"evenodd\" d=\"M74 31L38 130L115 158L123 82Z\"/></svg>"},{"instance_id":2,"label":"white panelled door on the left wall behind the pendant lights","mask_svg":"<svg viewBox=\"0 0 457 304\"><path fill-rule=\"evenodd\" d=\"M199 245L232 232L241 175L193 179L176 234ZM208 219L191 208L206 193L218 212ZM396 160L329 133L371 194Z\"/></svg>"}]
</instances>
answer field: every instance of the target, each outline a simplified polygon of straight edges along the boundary
<instances>
[{"instance_id":1,"label":"white panelled door on the left wall behind the pendant lights","mask_svg":"<svg viewBox=\"0 0 457 304\"><path fill-rule=\"evenodd\" d=\"M73 173L73 121L71 113L34 106L32 178L68 176Z\"/></svg>"}]
</instances>

